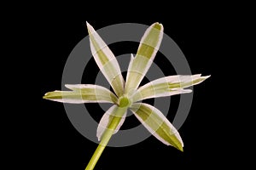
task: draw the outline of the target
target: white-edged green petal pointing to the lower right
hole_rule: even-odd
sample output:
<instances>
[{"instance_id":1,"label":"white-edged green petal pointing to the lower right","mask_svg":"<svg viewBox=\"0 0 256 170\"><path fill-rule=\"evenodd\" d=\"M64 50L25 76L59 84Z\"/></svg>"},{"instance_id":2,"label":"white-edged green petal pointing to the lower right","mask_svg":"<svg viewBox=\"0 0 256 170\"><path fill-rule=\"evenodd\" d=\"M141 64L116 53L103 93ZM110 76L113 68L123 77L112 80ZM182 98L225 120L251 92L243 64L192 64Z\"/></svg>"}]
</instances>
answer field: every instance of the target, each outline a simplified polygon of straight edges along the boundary
<instances>
[{"instance_id":1,"label":"white-edged green petal pointing to the lower right","mask_svg":"<svg viewBox=\"0 0 256 170\"><path fill-rule=\"evenodd\" d=\"M164 144L172 145L183 151L183 141L177 129L172 126L172 123L166 119L161 111L152 105L143 103L131 105L131 111L154 137Z\"/></svg>"}]
</instances>

